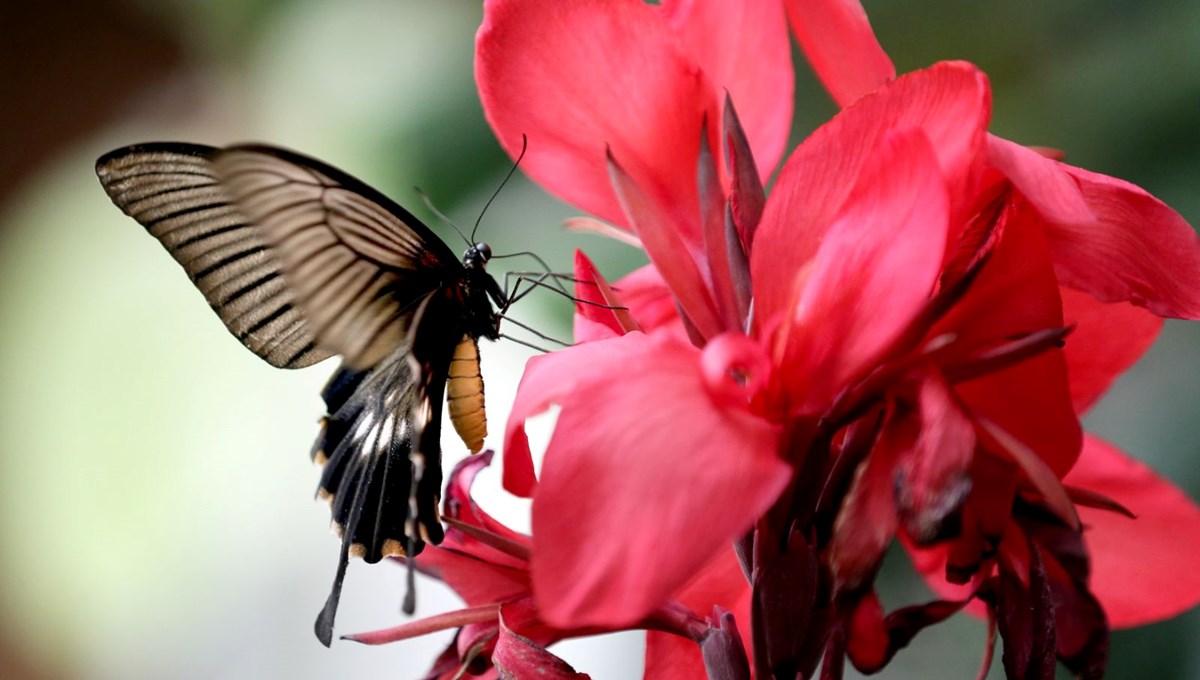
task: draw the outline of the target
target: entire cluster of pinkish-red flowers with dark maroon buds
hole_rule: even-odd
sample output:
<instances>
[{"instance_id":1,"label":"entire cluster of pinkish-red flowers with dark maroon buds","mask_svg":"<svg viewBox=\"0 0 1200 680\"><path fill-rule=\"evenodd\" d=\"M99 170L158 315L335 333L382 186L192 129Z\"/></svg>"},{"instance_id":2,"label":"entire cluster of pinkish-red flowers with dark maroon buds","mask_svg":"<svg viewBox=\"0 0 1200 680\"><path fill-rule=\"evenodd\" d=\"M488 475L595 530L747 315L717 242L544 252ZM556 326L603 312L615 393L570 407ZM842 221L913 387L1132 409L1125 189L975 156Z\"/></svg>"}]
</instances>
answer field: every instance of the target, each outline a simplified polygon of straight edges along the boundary
<instances>
[{"instance_id":1,"label":"entire cluster of pinkish-red flowers with dark maroon buds","mask_svg":"<svg viewBox=\"0 0 1200 680\"><path fill-rule=\"evenodd\" d=\"M842 109L768 195L790 34ZM490 0L476 50L505 149L650 265L577 255L577 344L526 369L503 474L532 537L460 471L419 562L470 608L358 639L460 627L434 676L572 678L546 645L644 628L648 678L835 678L968 608L1009 676L1098 676L1111 627L1200 601L1200 510L1079 421L1200 318L1176 212L989 134L971 64L896 77L851 0ZM883 610L896 541L942 600Z\"/></svg>"}]
</instances>

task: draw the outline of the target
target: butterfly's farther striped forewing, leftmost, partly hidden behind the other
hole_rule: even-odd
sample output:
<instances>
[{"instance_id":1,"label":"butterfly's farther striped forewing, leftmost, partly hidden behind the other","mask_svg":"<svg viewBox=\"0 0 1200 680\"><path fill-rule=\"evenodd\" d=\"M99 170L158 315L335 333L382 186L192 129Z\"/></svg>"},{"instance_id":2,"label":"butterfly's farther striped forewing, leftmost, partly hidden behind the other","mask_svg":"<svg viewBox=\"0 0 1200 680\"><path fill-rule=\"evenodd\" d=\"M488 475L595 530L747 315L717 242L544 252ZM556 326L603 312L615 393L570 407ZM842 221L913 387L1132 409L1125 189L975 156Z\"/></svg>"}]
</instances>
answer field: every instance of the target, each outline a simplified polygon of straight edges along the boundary
<instances>
[{"instance_id":1,"label":"butterfly's farther striped forewing, leftmost, partly hidden behind the other","mask_svg":"<svg viewBox=\"0 0 1200 680\"><path fill-rule=\"evenodd\" d=\"M317 348L265 235L218 180L216 149L140 144L106 154L96 175L113 203L137 219L184 266L242 344L281 368L316 363Z\"/></svg>"}]
</instances>

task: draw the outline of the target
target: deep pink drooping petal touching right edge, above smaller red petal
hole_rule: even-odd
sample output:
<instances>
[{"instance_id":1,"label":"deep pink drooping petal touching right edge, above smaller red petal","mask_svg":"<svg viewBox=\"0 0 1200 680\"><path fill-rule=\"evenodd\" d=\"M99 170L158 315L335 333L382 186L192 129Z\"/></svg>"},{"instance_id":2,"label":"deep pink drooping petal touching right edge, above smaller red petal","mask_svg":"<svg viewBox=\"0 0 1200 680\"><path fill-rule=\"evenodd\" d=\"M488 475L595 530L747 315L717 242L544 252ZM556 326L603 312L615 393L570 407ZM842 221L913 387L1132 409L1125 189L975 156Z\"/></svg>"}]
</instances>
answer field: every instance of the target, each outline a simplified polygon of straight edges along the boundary
<instances>
[{"instance_id":1,"label":"deep pink drooping petal touching right edge, above smaller red petal","mask_svg":"<svg viewBox=\"0 0 1200 680\"><path fill-rule=\"evenodd\" d=\"M1063 284L1105 302L1128 300L1159 317L1200 319L1200 237L1163 201L1129 182L1061 166L1094 219L1048 219Z\"/></svg>"}]
</instances>

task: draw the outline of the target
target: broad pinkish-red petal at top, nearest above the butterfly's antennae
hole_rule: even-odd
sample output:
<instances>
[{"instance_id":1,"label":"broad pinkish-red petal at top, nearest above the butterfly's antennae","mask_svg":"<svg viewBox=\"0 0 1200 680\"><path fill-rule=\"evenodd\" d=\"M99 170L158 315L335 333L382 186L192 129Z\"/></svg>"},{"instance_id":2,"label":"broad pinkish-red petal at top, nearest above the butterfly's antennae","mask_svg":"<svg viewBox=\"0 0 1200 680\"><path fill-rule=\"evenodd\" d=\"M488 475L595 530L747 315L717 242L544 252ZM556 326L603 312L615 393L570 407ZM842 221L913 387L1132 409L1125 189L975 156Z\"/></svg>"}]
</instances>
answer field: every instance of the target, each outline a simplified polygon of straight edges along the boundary
<instances>
[{"instance_id":1,"label":"broad pinkish-red petal at top, nearest above the butterfly's antennae","mask_svg":"<svg viewBox=\"0 0 1200 680\"><path fill-rule=\"evenodd\" d=\"M692 210L701 124L716 91L642 0L488 0L475 38L484 113L522 169L559 198L628 227L605 149L661 205Z\"/></svg>"}]
</instances>

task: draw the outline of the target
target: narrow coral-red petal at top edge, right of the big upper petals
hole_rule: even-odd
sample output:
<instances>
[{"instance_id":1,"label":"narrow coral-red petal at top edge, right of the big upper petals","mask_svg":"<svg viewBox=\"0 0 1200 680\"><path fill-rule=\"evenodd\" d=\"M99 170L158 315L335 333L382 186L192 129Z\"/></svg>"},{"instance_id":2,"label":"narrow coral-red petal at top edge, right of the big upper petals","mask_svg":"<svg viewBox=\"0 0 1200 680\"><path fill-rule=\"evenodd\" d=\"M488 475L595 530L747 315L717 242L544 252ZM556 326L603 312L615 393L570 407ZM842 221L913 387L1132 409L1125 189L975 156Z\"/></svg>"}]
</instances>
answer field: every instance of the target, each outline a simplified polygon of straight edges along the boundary
<instances>
[{"instance_id":1,"label":"narrow coral-red petal at top edge, right of the big upper petals","mask_svg":"<svg viewBox=\"0 0 1200 680\"><path fill-rule=\"evenodd\" d=\"M858 0L787 0L787 18L838 104L848 106L895 78L896 68Z\"/></svg>"}]
</instances>

